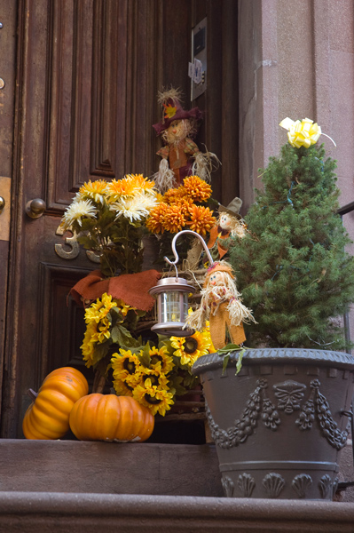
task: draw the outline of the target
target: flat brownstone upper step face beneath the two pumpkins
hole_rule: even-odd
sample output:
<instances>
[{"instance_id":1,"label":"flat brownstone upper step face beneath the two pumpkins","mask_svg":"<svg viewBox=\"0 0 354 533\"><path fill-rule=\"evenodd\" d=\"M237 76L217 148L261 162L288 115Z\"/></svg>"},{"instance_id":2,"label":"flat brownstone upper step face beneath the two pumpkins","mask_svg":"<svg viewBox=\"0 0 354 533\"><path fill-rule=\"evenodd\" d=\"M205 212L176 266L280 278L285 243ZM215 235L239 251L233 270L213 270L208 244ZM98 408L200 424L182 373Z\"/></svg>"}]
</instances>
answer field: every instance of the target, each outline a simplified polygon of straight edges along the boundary
<instances>
[{"instance_id":1,"label":"flat brownstone upper step face beneath the two pumpkins","mask_svg":"<svg viewBox=\"0 0 354 533\"><path fill-rule=\"evenodd\" d=\"M222 497L213 445L0 440L0 490Z\"/></svg>"}]
</instances>

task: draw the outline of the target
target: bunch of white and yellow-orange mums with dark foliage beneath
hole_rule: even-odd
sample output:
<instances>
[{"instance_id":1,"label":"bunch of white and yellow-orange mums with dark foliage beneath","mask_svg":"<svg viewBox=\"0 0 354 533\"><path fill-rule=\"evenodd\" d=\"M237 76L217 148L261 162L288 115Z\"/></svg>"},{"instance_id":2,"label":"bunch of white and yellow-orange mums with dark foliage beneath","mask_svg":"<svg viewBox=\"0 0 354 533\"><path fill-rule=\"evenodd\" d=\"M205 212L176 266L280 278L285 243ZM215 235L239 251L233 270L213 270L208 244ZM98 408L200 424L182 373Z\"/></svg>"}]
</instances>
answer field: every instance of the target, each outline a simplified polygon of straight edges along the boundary
<instances>
[{"instance_id":1,"label":"bunch of white and yellow-orange mums with dark foliage beneath","mask_svg":"<svg viewBox=\"0 0 354 533\"><path fill-rule=\"evenodd\" d=\"M141 239L157 199L154 182L142 174L88 181L65 211L61 227L70 227L85 249L98 253L102 274L134 274L141 270Z\"/></svg>"}]
</instances>

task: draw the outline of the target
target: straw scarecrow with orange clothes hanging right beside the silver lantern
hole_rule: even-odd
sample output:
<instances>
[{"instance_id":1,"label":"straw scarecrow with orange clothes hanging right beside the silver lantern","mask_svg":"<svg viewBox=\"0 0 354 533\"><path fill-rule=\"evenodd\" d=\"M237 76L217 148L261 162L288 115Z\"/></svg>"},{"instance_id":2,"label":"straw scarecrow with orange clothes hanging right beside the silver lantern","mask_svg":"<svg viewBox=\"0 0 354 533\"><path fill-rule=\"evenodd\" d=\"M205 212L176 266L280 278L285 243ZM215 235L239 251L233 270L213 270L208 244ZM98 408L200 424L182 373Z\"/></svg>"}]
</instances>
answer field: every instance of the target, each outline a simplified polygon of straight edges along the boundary
<instances>
[{"instance_id":1,"label":"straw scarecrow with orange clothes hanging right beside the silver lantern","mask_svg":"<svg viewBox=\"0 0 354 533\"><path fill-rule=\"evenodd\" d=\"M248 307L242 304L240 296L231 265L226 261L213 263L201 290L201 306L188 316L187 326L201 331L208 320L216 350L227 344L226 327L232 344L242 344L246 340L243 322L256 321Z\"/></svg>"}]
</instances>

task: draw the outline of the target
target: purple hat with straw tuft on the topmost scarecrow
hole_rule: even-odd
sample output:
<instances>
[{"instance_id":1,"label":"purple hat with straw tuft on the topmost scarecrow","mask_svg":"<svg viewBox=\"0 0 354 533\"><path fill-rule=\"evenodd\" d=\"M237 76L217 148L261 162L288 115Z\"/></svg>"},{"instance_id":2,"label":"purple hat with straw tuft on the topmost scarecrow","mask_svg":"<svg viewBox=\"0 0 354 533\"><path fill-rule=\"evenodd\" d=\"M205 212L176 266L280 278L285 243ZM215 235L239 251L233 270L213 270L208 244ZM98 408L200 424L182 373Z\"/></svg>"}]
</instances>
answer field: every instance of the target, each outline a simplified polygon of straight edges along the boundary
<instances>
[{"instance_id":1,"label":"purple hat with straw tuft on the topmost scarecrow","mask_svg":"<svg viewBox=\"0 0 354 533\"><path fill-rule=\"evenodd\" d=\"M183 120L184 118L201 120L203 115L201 109L199 107L193 107L193 109L186 111L181 106L180 96L181 91L173 87L168 91L158 93L157 101L162 106L162 119L161 122L153 124L156 135L160 135L162 131L167 130L169 124L174 120Z\"/></svg>"}]
</instances>

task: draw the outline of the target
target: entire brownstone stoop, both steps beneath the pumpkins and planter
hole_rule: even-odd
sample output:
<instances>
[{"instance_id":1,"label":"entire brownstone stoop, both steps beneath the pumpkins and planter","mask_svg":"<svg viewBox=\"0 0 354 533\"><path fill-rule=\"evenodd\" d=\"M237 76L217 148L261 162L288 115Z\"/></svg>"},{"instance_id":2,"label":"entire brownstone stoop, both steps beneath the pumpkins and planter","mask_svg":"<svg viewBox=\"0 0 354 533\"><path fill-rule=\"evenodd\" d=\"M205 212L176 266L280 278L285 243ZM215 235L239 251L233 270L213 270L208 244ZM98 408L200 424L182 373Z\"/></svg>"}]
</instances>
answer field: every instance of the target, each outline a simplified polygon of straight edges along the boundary
<instances>
[{"instance_id":1,"label":"entire brownstone stoop, both steps beneath the pumpkins and planter","mask_svg":"<svg viewBox=\"0 0 354 533\"><path fill-rule=\"evenodd\" d=\"M0 533L354 533L342 495L226 498L208 444L0 440Z\"/></svg>"}]
</instances>

